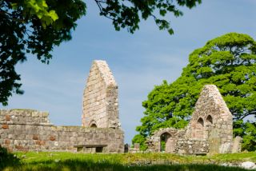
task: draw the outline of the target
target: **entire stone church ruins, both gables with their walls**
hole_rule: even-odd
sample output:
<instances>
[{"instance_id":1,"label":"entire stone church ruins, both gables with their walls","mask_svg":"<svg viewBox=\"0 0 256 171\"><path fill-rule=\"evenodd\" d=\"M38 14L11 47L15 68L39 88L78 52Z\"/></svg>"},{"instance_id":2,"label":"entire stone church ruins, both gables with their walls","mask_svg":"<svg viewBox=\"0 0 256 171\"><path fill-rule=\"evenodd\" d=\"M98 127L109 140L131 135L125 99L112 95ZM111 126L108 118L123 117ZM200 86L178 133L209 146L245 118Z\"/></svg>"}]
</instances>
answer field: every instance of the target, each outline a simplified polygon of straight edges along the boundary
<instances>
[{"instance_id":1,"label":"entire stone church ruins, both gables with their walls","mask_svg":"<svg viewBox=\"0 0 256 171\"><path fill-rule=\"evenodd\" d=\"M123 153L118 114L118 85L105 61L94 61L82 97L82 126L56 126L49 113L0 110L0 145L10 151ZM179 154L237 153L233 119L215 85L205 85L185 129L159 129L147 140L149 152ZM128 145L126 145L126 152ZM130 153L139 151L134 145Z\"/></svg>"}]
</instances>

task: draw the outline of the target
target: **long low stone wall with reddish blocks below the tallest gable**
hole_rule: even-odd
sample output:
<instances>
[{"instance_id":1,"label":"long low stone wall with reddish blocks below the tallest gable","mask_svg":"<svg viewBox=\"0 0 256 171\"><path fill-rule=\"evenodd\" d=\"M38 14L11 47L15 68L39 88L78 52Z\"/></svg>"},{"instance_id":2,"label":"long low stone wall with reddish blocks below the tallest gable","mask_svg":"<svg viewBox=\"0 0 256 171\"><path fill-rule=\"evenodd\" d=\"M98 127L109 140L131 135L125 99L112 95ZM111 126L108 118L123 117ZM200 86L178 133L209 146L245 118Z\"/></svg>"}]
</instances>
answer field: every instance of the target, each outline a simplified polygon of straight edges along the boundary
<instances>
[{"instance_id":1,"label":"long low stone wall with reddish blocks below the tallest gable","mask_svg":"<svg viewBox=\"0 0 256 171\"><path fill-rule=\"evenodd\" d=\"M0 145L11 151L75 152L74 145L104 145L105 153L124 151L122 129L54 126L48 115L28 109L0 110Z\"/></svg>"}]
</instances>

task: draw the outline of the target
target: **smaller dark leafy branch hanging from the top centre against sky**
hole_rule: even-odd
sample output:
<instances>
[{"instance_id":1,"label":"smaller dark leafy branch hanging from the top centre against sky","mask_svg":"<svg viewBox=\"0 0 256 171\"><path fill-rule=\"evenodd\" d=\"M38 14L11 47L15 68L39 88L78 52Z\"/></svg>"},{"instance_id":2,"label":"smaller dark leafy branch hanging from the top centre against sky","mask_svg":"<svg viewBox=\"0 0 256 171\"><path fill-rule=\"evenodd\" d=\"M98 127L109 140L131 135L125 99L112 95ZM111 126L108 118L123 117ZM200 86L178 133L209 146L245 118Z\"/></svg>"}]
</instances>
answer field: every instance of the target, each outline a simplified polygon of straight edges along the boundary
<instances>
[{"instance_id":1,"label":"smaller dark leafy branch hanging from the top centre against sky","mask_svg":"<svg viewBox=\"0 0 256 171\"><path fill-rule=\"evenodd\" d=\"M152 17L159 30L168 30L170 34L174 34L170 22L164 18L166 14L172 13L175 17L182 16L182 11L178 10L177 6L186 6L191 9L197 3L200 4L202 0L127 0L125 2L120 0L95 0L95 2L99 7L100 15L113 21L115 30L127 28L130 33L134 33L139 28L140 18L146 20ZM139 14L141 14L141 17Z\"/></svg>"}]
</instances>

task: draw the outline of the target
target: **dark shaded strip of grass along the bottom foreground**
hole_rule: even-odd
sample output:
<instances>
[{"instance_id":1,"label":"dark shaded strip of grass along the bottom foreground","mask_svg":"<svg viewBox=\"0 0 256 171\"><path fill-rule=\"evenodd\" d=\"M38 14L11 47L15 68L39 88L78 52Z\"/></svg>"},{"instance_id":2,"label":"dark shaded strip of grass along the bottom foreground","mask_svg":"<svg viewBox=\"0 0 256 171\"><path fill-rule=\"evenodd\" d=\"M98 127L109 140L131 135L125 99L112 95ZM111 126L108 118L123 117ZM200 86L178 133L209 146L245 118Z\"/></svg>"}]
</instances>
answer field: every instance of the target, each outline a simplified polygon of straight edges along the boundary
<instances>
[{"instance_id":1,"label":"dark shaded strip of grass along the bottom foreground","mask_svg":"<svg viewBox=\"0 0 256 171\"><path fill-rule=\"evenodd\" d=\"M13 165L7 167L6 170L65 170L65 171L126 171L126 170L169 170L169 171L246 171L237 167L225 167L219 165L121 165L118 163L110 163L107 161L88 161L88 160L66 160L66 161L46 161L32 162L30 164Z\"/></svg>"}]
</instances>

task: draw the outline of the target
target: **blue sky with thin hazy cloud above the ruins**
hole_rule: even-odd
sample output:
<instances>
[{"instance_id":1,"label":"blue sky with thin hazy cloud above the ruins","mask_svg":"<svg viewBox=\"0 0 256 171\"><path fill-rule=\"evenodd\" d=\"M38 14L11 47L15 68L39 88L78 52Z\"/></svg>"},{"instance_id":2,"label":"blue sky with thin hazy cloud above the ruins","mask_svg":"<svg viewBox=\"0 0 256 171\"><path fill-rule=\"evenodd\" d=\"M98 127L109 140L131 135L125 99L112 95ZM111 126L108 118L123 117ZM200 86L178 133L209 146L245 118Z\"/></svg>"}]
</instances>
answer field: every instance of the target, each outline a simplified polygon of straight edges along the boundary
<instances>
[{"instance_id":1,"label":"blue sky with thin hazy cloud above the ruins","mask_svg":"<svg viewBox=\"0 0 256 171\"><path fill-rule=\"evenodd\" d=\"M202 0L181 18L167 16L174 35L159 31L152 19L129 34L115 31L98 15L94 1L86 0L87 14L78 21L70 42L55 47L50 65L34 57L18 64L23 95L14 94L2 109L38 109L50 112L55 125L81 125L82 92L91 63L106 60L118 82L119 116L125 141L136 134L143 117L142 101L162 80L173 82L182 73L189 54L222 34L238 32L256 39L256 0Z\"/></svg>"}]
</instances>

